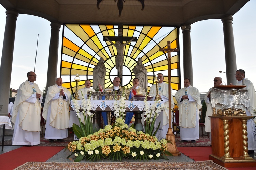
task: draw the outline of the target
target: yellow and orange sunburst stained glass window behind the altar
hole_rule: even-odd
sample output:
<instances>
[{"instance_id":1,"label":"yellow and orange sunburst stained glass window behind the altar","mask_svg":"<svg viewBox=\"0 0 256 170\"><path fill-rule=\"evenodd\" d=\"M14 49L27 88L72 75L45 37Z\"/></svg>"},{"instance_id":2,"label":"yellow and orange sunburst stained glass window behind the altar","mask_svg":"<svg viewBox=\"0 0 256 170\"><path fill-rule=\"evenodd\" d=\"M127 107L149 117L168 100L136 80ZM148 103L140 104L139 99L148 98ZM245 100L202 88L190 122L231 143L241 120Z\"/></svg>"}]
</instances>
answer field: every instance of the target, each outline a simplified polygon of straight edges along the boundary
<instances>
[{"instance_id":1,"label":"yellow and orange sunburst stained glass window behind the altar","mask_svg":"<svg viewBox=\"0 0 256 170\"><path fill-rule=\"evenodd\" d=\"M161 26L123 26L123 37L137 37L124 47L124 65L122 85L132 87L135 78L133 67L138 58L148 71L148 90L154 83L154 76L163 73L168 83L167 53L159 48L167 48L167 41L171 41L171 48L179 48L179 29ZM106 66L105 88L112 86L113 78L117 76L115 68L116 48L104 41L105 36L118 36L117 25L77 25L66 24L63 27L63 44L61 56L60 76L63 86L70 92L75 92L74 77L79 74L79 89L84 88L85 80L91 80L93 85L93 69L104 58ZM115 42L113 42L115 43ZM123 42L125 43L125 42ZM178 52L171 52L171 86L173 90L180 89L180 58Z\"/></svg>"}]
</instances>

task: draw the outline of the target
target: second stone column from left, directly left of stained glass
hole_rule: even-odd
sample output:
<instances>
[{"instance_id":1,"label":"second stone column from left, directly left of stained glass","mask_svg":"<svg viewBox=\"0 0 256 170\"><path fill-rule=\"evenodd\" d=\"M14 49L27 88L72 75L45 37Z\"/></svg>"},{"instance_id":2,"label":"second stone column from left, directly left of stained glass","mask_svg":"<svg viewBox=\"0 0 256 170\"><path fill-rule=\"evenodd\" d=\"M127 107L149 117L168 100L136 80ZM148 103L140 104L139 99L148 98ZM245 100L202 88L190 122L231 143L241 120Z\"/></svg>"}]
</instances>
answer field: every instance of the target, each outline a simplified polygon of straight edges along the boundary
<instances>
[{"instance_id":1,"label":"second stone column from left, directly left of stained glass","mask_svg":"<svg viewBox=\"0 0 256 170\"><path fill-rule=\"evenodd\" d=\"M51 39L49 47L48 72L46 82L46 92L49 86L55 84L57 78L58 50L59 50L59 30L60 23L51 23Z\"/></svg>"}]
</instances>

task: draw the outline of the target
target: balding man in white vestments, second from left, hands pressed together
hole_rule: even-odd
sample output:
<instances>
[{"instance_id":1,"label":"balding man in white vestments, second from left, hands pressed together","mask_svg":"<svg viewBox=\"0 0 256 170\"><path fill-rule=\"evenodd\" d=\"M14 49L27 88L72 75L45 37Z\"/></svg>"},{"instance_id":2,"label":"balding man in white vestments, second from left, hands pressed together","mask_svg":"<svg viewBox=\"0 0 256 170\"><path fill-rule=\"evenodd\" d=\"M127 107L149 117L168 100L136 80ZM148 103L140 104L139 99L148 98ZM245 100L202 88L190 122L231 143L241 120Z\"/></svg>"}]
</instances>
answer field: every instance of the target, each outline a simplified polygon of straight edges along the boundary
<instances>
[{"instance_id":1,"label":"balding man in white vestments, second from left, hands pressed together","mask_svg":"<svg viewBox=\"0 0 256 170\"><path fill-rule=\"evenodd\" d=\"M46 120L44 138L50 142L63 142L68 137L70 96L62 86L62 78L57 78L56 84L47 90L42 116Z\"/></svg>"}]
</instances>

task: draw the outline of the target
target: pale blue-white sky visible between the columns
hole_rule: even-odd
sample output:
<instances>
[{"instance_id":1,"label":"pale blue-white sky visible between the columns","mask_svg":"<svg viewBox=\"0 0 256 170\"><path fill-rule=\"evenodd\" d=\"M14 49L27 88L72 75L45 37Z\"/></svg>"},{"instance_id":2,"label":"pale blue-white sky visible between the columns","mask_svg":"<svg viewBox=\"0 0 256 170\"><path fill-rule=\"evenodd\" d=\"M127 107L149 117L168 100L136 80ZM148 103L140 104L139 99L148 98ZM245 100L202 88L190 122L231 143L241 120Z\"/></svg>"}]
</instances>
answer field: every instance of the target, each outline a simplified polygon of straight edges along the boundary
<instances>
[{"instance_id":1,"label":"pale blue-white sky visible between the columns","mask_svg":"<svg viewBox=\"0 0 256 170\"><path fill-rule=\"evenodd\" d=\"M245 71L245 78L255 84L256 70L256 1L251 0L233 15L233 32L236 49L237 69ZM2 57L3 38L6 22L5 8L0 5L0 58ZM213 87L214 77L222 77L227 85L223 26L221 19L204 20L191 25L191 47L193 64L193 86L199 92L208 92ZM60 58L62 46L62 29L60 28L57 77L60 75ZM46 19L19 14L16 22L16 34L11 75L12 89L27 80L27 72L34 71L41 91L46 87L51 27ZM183 48L180 29L181 87L183 85ZM38 47L37 47L38 40ZM35 64L35 57L37 58ZM35 68L34 68L35 65ZM167 77L166 77L167 79ZM225 85L225 83L223 83Z\"/></svg>"}]
</instances>

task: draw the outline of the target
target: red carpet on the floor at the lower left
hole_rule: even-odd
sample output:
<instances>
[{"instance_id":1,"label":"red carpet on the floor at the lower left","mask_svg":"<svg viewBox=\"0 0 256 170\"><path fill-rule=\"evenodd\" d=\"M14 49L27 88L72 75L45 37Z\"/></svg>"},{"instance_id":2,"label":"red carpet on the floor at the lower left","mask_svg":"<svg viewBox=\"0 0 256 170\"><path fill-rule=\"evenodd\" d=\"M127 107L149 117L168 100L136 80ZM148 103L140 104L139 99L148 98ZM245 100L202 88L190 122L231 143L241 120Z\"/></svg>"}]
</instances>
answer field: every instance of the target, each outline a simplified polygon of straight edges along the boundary
<instances>
[{"instance_id":1,"label":"red carpet on the floor at the lower left","mask_svg":"<svg viewBox=\"0 0 256 170\"><path fill-rule=\"evenodd\" d=\"M31 146L20 147L0 155L0 167L4 170L12 170L29 162L45 162L65 147Z\"/></svg>"}]
</instances>

